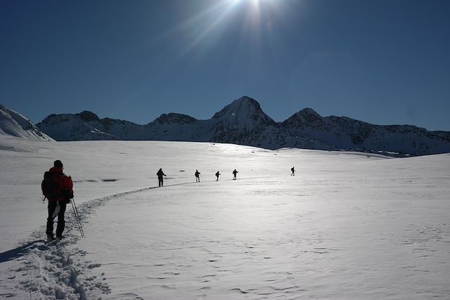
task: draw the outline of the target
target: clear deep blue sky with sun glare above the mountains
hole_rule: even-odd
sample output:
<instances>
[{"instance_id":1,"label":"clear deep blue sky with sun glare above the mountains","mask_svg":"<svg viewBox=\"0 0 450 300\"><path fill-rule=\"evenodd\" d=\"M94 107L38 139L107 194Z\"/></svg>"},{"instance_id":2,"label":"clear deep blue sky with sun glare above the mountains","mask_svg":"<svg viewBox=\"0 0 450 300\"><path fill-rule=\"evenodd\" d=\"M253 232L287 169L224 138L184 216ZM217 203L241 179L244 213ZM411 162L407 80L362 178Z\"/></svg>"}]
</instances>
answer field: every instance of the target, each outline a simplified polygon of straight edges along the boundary
<instances>
[{"instance_id":1,"label":"clear deep blue sky with sun glare above the mountains","mask_svg":"<svg viewBox=\"0 0 450 300\"><path fill-rule=\"evenodd\" d=\"M0 0L0 103L209 119L241 96L450 131L448 0Z\"/></svg>"}]
</instances>

